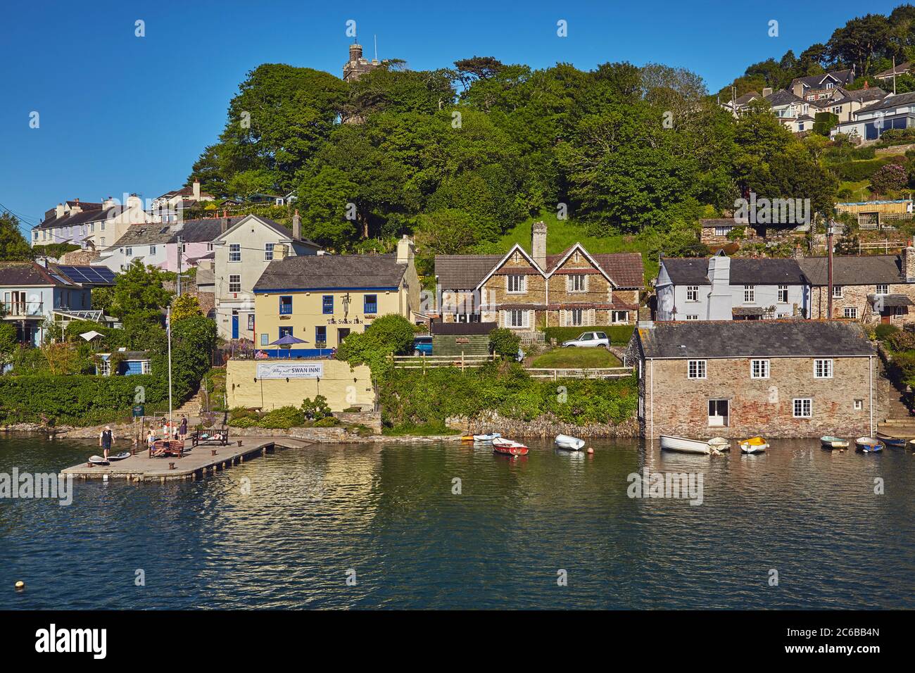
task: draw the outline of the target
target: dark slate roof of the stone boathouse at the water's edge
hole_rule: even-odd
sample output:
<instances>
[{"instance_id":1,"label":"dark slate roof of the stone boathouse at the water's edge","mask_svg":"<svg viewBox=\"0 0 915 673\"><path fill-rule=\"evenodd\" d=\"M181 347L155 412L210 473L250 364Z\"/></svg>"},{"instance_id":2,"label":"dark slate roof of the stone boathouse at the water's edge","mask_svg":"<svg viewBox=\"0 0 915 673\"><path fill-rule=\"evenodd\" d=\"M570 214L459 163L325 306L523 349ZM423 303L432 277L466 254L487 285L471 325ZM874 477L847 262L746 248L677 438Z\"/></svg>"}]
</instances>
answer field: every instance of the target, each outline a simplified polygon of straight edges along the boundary
<instances>
[{"instance_id":1,"label":"dark slate roof of the stone boathouse at the water's edge","mask_svg":"<svg viewBox=\"0 0 915 673\"><path fill-rule=\"evenodd\" d=\"M655 322L636 331L647 358L845 357L873 355L856 323L821 320Z\"/></svg>"}]
</instances>

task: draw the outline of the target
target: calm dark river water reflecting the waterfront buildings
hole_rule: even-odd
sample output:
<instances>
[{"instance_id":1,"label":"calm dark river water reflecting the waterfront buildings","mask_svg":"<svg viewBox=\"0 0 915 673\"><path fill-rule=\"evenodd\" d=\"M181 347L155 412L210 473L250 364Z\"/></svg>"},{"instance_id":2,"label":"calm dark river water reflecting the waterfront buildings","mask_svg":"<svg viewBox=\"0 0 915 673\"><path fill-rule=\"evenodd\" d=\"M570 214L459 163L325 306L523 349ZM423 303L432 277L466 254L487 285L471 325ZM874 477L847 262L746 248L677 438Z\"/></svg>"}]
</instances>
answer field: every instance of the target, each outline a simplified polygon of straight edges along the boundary
<instances>
[{"instance_id":1,"label":"calm dark river water reflecting the waterfront buildings","mask_svg":"<svg viewBox=\"0 0 915 673\"><path fill-rule=\"evenodd\" d=\"M0 500L0 609L915 608L911 451L593 446L319 445L198 483L75 482L70 506ZM96 451L0 434L0 472ZM645 467L701 472L702 505L628 497Z\"/></svg>"}]
</instances>

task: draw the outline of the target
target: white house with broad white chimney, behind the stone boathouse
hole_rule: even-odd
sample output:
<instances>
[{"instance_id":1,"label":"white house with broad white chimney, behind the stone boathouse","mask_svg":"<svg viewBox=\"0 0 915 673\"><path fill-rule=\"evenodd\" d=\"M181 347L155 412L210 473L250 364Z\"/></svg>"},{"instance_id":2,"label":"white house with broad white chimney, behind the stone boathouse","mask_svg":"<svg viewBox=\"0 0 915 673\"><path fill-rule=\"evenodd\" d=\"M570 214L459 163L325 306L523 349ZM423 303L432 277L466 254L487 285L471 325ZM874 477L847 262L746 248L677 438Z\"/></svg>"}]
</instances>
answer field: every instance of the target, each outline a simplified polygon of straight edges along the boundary
<instances>
[{"instance_id":1,"label":"white house with broad white chimney, behind the stone boathouse","mask_svg":"<svg viewBox=\"0 0 915 673\"><path fill-rule=\"evenodd\" d=\"M793 259L663 258L656 320L806 318L810 289Z\"/></svg>"}]
</instances>

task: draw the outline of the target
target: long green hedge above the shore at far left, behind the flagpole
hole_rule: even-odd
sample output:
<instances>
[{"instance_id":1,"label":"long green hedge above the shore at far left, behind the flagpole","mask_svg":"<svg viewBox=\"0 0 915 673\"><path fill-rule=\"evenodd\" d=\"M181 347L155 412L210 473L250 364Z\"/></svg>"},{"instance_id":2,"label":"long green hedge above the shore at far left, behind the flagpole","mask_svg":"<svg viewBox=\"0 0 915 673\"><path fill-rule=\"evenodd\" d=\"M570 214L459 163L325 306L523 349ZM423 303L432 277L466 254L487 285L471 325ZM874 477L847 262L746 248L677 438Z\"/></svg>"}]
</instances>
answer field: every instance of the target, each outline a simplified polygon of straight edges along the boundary
<instances>
[{"instance_id":1,"label":"long green hedge above the shore at far left, behind the flagpole","mask_svg":"<svg viewBox=\"0 0 915 673\"><path fill-rule=\"evenodd\" d=\"M146 413L167 407L166 385L153 374L0 376L0 423L40 423L42 415L57 425L105 423L130 415L137 386Z\"/></svg>"}]
</instances>

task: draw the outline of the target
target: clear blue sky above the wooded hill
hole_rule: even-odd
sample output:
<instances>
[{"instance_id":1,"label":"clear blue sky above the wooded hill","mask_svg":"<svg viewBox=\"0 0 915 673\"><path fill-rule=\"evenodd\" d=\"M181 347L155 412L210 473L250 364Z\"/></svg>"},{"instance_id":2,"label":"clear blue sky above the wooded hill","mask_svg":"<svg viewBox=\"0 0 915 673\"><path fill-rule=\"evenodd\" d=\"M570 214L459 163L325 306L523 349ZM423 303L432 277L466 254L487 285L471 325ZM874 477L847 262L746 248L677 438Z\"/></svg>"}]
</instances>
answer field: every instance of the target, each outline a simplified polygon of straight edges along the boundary
<instances>
[{"instance_id":1,"label":"clear blue sky above the wooded hill","mask_svg":"<svg viewBox=\"0 0 915 673\"><path fill-rule=\"evenodd\" d=\"M371 57L415 70L473 55L589 70L629 60L683 66L710 91L753 62L814 42L902 0L830 2L348 3L5 0L0 22L0 210L38 223L59 201L178 189L218 136L245 73L284 62L340 75L357 22ZM135 37L135 21L145 37ZM568 36L556 36L565 19ZM779 21L779 37L768 36ZM29 114L39 127L29 128Z\"/></svg>"}]
</instances>

